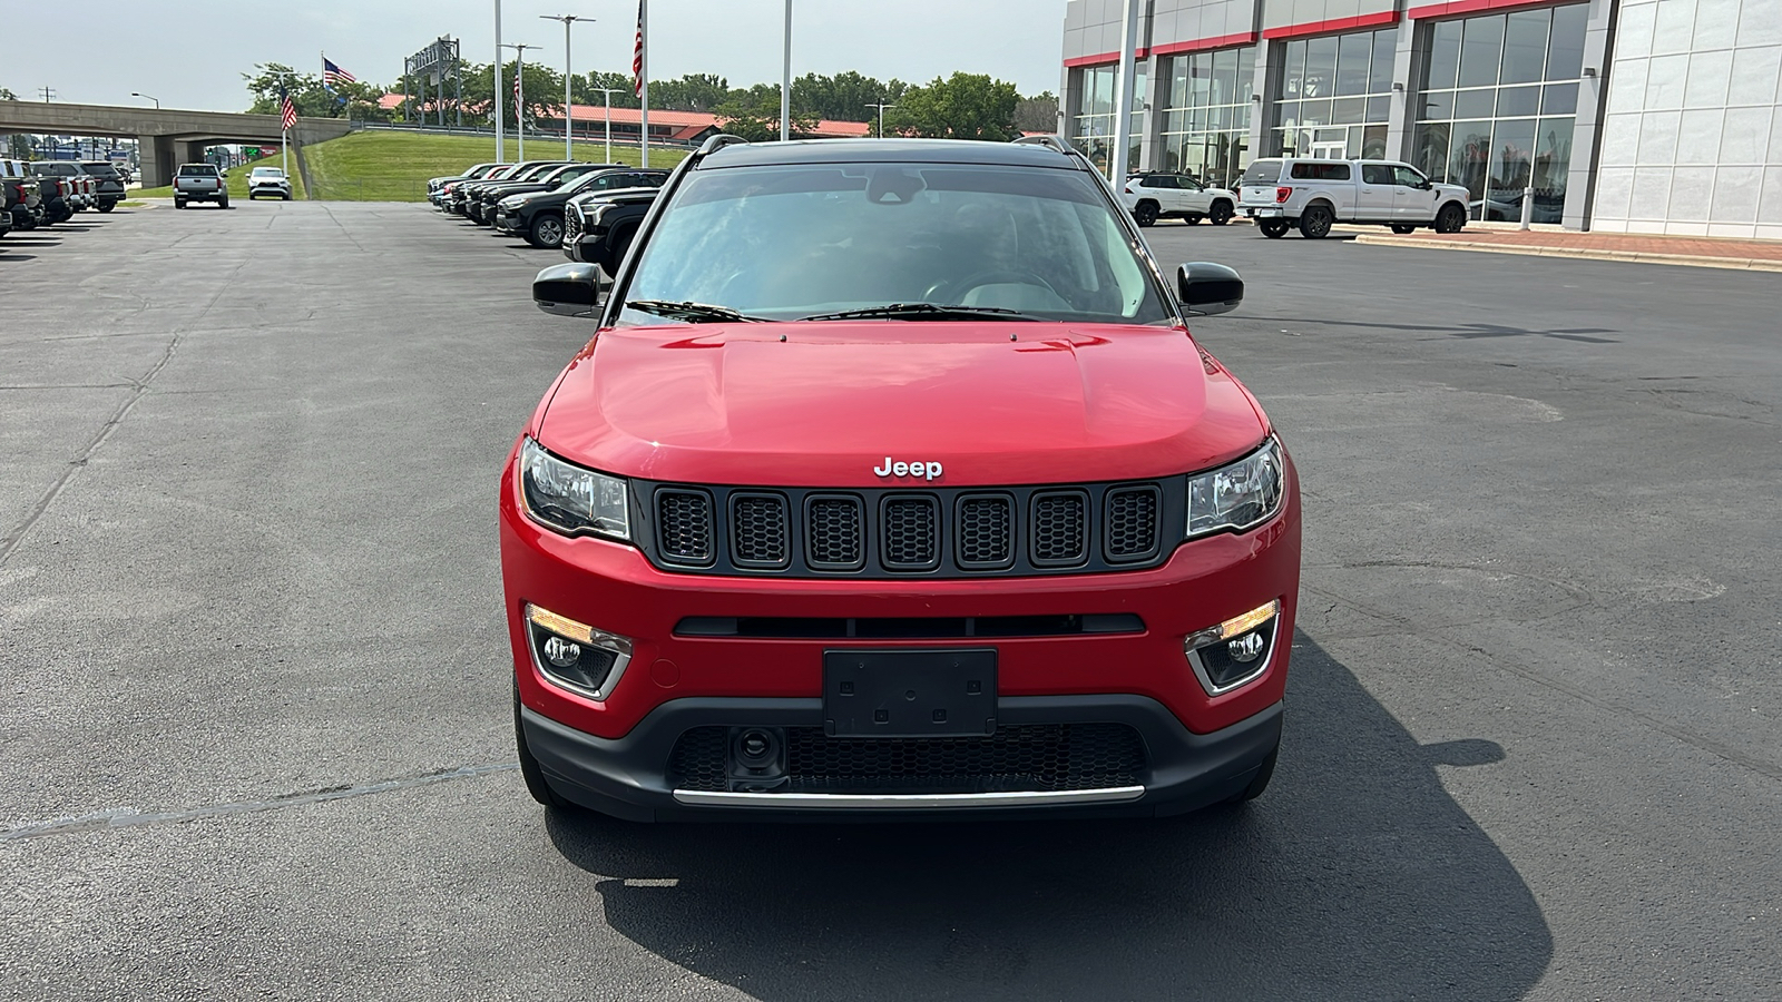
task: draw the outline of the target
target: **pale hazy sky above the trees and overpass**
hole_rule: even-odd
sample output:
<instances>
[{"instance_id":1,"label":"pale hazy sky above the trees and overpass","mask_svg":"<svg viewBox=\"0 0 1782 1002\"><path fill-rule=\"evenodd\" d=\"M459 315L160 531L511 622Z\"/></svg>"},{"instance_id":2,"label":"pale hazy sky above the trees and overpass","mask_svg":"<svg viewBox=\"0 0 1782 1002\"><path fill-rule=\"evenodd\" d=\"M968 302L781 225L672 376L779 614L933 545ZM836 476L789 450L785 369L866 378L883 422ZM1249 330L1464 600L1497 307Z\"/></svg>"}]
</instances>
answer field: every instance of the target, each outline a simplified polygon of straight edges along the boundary
<instances>
[{"instance_id":1,"label":"pale hazy sky above the trees and overpass","mask_svg":"<svg viewBox=\"0 0 1782 1002\"><path fill-rule=\"evenodd\" d=\"M0 9L25 0L0 0ZM793 75L857 70L927 82L953 71L1010 80L1023 94L1059 89L1066 0L793 0ZM84 0L69 45L9 45L0 87L23 100L242 111L242 73L285 62L319 73L321 53L360 80L392 84L403 57L438 36L463 57L494 59L495 0ZM32 9L29 4L25 9ZM504 0L501 41L538 45L526 59L574 70L631 70L636 0ZM732 87L781 78L782 0L650 0L650 78L716 73ZM511 50L508 50L511 59Z\"/></svg>"}]
</instances>

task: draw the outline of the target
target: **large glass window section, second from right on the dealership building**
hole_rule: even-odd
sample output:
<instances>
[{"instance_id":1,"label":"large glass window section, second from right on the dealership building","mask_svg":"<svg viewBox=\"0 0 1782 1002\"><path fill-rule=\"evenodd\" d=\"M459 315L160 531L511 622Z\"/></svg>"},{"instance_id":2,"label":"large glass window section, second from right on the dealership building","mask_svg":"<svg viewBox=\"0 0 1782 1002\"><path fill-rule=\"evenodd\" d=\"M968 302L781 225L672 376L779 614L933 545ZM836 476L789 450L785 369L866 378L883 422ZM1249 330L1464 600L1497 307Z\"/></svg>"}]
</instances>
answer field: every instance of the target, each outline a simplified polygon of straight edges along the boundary
<instances>
[{"instance_id":1,"label":"large glass window section, second from right on the dealership building","mask_svg":"<svg viewBox=\"0 0 1782 1002\"><path fill-rule=\"evenodd\" d=\"M1383 157L1399 29L1292 39L1281 46L1281 100L1271 155Z\"/></svg>"}]
</instances>

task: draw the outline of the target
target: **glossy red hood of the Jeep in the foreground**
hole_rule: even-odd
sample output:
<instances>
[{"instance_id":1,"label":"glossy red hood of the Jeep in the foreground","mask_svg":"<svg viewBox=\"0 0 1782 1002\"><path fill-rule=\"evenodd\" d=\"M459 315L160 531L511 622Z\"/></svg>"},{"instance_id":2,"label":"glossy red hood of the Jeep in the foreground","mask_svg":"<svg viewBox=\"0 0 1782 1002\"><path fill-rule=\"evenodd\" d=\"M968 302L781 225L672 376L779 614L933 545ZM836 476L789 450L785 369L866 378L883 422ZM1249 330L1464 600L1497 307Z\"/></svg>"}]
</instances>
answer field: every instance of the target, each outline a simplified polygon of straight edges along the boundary
<instances>
[{"instance_id":1,"label":"glossy red hood of the Jeep in the foreground","mask_svg":"<svg viewBox=\"0 0 1782 1002\"><path fill-rule=\"evenodd\" d=\"M1180 328L873 321L602 332L538 439L645 480L911 483L873 474L891 456L971 487L1180 474L1262 435L1244 389Z\"/></svg>"}]
</instances>

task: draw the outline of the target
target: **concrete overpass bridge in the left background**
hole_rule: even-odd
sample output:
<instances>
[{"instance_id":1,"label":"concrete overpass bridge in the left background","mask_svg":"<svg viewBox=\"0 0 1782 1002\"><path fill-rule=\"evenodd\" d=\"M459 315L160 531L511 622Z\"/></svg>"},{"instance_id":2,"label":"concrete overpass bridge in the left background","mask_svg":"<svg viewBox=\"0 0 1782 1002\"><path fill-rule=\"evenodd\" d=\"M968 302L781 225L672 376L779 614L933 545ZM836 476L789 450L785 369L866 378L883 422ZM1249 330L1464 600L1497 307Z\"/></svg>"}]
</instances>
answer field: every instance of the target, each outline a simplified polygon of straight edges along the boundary
<instances>
[{"instance_id":1,"label":"concrete overpass bridge in the left background","mask_svg":"<svg viewBox=\"0 0 1782 1002\"><path fill-rule=\"evenodd\" d=\"M276 114L50 102L0 102L0 134L5 132L134 137L141 148L143 187L173 184L173 169L203 159L205 146L278 144L283 137ZM305 146L346 134L344 118L299 118L290 128L290 143Z\"/></svg>"}]
</instances>

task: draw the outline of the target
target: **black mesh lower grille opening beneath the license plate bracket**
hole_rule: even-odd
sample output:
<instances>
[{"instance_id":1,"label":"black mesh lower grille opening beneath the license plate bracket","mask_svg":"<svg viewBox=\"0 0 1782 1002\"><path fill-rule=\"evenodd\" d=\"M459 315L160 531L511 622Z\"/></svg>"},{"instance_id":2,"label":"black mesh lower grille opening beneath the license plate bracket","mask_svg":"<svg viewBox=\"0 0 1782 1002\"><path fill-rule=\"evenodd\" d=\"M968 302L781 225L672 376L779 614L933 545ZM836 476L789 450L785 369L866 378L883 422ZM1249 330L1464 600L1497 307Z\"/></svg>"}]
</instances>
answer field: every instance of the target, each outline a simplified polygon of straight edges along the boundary
<instances>
[{"instance_id":1,"label":"black mesh lower grille opening beneath the license plate bracket","mask_svg":"<svg viewBox=\"0 0 1782 1002\"><path fill-rule=\"evenodd\" d=\"M1018 724L987 736L830 738L786 729L789 792L991 793L1135 786L1144 742L1124 724ZM677 790L723 790L729 735L693 727L668 763Z\"/></svg>"}]
</instances>

